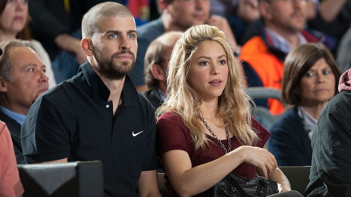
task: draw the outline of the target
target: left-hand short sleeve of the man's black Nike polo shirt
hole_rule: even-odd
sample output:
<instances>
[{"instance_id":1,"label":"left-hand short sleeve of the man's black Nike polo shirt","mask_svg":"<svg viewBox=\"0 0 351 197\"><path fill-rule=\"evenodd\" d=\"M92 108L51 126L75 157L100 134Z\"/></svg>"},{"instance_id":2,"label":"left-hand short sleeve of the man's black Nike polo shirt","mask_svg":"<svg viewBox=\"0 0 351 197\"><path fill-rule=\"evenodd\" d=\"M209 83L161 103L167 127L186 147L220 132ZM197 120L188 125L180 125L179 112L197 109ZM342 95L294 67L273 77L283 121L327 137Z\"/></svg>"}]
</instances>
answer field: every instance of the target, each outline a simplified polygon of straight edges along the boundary
<instances>
[{"instance_id":1,"label":"left-hand short sleeve of the man's black Nike polo shirt","mask_svg":"<svg viewBox=\"0 0 351 197\"><path fill-rule=\"evenodd\" d=\"M64 113L62 113L64 111ZM40 97L33 103L21 127L21 143L26 163L53 161L70 155L69 131L75 124L74 107Z\"/></svg>"}]
</instances>

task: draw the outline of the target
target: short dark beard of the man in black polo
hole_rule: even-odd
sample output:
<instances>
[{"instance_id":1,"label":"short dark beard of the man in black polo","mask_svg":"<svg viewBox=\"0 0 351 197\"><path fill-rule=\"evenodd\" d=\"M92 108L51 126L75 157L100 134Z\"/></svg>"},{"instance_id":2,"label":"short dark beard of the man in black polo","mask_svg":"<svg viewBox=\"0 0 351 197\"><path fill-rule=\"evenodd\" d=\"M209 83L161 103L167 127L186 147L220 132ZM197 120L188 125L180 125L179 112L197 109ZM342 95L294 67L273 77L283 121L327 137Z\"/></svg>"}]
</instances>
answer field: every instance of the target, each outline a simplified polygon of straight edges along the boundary
<instances>
[{"instance_id":1,"label":"short dark beard of the man in black polo","mask_svg":"<svg viewBox=\"0 0 351 197\"><path fill-rule=\"evenodd\" d=\"M127 49L122 50L121 52L114 53L110 58L104 56L101 50L95 47L95 59L97 60L99 66L97 67L97 72L106 79L112 80L121 80L125 77L134 67L135 56L134 54ZM129 53L132 55L132 62L123 61L114 63L115 57L120 54Z\"/></svg>"}]
</instances>

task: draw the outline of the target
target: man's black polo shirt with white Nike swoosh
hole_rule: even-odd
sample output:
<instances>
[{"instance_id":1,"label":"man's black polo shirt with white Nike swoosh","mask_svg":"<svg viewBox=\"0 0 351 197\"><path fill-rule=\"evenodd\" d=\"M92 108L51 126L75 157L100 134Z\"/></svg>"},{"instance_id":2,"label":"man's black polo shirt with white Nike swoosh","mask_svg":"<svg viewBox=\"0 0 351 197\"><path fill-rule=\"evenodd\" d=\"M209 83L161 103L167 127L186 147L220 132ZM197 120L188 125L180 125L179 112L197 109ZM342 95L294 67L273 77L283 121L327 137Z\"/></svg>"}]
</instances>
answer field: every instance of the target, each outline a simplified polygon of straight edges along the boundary
<instances>
[{"instance_id":1,"label":"man's black polo shirt with white Nike swoosh","mask_svg":"<svg viewBox=\"0 0 351 197\"><path fill-rule=\"evenodd\" d=\"M26 163L101 160L105 194L137 196L140 172L156 169L154 108L126 76L113 116L108 88L88 62L79 70L29 110L21 129Z\"/></svg>"}]
</instances>

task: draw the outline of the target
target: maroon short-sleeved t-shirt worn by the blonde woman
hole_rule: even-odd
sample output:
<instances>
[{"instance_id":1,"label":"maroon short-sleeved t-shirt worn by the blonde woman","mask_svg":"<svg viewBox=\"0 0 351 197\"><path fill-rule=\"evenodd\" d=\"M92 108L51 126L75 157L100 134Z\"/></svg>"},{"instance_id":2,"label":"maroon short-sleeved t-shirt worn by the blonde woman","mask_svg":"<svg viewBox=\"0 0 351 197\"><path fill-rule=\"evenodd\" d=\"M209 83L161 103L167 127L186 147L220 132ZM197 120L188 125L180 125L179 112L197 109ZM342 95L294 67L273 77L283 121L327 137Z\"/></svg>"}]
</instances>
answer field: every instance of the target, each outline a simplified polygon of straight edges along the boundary
<instances>
[{"instance_id":1,"label":"maroon short-sleeved t-shirt worn by the blonde woman","mask_svg":"<svg viewBox=\"0 0 351 197\"><path fill-rule=\"evenodd\" d=\"M252 116L251 121L253 130L257 131L257 135L260 138L260 143L257 147L263 148L271 134ZM195 167L225 155L224 149L220 146L217 140L207 134L206 137L214 143L209 143L210 147L206 147L205 150L199 149L195 151L189 129L185 126L179 115L172 114L171 112L167 112L160 116L156 123L156 132L157 151L160 158L167 151L184 150L190 157L192 167ZM216 133L216 131L214 132ZM241 146L236 137L232 137L230 140L231 150ZM221 142L224 144L225 148L228 149L228 140L221 140ZM241 163L232 172L244 178L256 177L255 167L247 163ZM166 172L164 177L166 179L166 192L169 196L178 196L174 191Z\"/></svg>"}]
</instances>

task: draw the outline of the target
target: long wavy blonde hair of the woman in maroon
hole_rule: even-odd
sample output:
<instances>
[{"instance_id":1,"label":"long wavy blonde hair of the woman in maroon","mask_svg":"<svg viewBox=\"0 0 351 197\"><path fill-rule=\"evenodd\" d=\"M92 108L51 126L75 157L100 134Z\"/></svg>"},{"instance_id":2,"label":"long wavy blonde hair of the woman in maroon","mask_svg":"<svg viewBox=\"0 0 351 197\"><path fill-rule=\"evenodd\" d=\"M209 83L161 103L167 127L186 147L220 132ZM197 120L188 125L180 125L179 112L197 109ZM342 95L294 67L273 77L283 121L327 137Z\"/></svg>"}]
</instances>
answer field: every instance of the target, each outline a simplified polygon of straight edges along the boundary
<instances>
[{"instance_id":1,"label":"long wavy blonde hair of the woman in maroon","mask_svg":"<svg viewBox=\"0 0 351 197\"><path fill-rule=\"evenodd\" d=\"M227 84L218 97L217 116L223 118L223 128L227 127L243 145L258 143L258 136L251 128L250 108L252 100L241 85L239 64L226 42L224 33L216 26L196 25L180 36L174 45L167 70L167 99L156 111L156 117L172 111L183 119L189 128L196 150L205 149L209 140L200 121L202 101L190 87L190 59L204 41L216 41L224 49L229 68Z\"/></svg>"}]
</instances>

